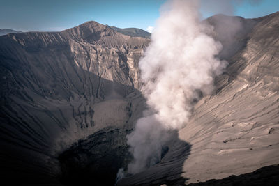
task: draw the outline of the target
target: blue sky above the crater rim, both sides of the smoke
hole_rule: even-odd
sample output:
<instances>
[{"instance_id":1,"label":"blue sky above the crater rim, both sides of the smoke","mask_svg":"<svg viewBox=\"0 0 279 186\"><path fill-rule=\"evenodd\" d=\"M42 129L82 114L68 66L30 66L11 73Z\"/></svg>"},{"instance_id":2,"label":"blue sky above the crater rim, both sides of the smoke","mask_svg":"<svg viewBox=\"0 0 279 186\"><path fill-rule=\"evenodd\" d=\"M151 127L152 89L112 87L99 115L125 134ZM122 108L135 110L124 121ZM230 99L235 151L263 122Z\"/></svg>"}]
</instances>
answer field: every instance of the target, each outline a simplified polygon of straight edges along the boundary
<instances>
[{"instance_id":1,"label":"blue sky above the crater rim, both sides of the smoke","mask_svg":"<svg viewBox=\"0 0 279 186\"><path fill-rule=\"evenodd\" d=\"M233 9L216 6L218 1L231 2ZM279 0L240 1L205 3L202 15L226 13L251 18L279 10ZM256 3L251 3L254 1ZM163 3L165 0L0 0L0 29L61 31L89 20L120 28L147 29L154 26ZM207 7L211 7L210 10L206 10Z\"/></svg>"}]
</instances>

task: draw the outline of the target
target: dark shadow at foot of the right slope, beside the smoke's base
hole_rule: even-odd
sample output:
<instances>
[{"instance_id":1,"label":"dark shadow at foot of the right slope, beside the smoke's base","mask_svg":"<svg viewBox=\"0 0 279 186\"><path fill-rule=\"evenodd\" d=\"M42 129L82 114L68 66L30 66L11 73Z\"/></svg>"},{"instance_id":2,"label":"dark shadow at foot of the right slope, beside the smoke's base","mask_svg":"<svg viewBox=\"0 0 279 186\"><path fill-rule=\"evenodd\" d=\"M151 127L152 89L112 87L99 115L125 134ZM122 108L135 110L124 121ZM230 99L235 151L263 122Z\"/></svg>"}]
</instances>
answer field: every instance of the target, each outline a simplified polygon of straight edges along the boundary
<instances>
[{"instance_id":1,"label":"dark shadow at foot of the right slope, beside the smoke's base","mask_svg":"<svg viewBox=\"0 0 279 186\"><path fill-rule=\"evenodd\" d=\"M185 185L183 178L183 163L190 155L191 145L179 139L177 131L171 132L169 141L165 144L167 153L162 160L149 167L146 171L136 173L119 180L117 185Z\"/></svg>"}]
</instances>

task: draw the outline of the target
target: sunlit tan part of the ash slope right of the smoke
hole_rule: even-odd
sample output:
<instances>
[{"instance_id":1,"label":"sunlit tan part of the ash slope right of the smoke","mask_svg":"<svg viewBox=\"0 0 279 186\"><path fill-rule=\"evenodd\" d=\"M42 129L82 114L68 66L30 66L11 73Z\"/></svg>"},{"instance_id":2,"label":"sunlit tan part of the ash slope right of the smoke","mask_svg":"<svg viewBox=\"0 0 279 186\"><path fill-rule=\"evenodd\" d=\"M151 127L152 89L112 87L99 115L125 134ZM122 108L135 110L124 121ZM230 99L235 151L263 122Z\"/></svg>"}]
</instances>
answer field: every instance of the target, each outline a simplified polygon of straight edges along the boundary
<instances>
[{"instance_id":1,"label":"sunlit tan part of the ash slope right of the smoke","mask_svg":"<svg viewBox=\"0 0 279 186\"><path fill-rule=\"evenodd\" d=\"M257 23L216 80L216 95L203 98L179 131L193 144L183 166L191 182L279 163L279 13L250 21Z\"/></svg>"}]
</instances>

